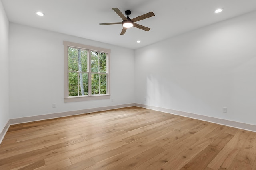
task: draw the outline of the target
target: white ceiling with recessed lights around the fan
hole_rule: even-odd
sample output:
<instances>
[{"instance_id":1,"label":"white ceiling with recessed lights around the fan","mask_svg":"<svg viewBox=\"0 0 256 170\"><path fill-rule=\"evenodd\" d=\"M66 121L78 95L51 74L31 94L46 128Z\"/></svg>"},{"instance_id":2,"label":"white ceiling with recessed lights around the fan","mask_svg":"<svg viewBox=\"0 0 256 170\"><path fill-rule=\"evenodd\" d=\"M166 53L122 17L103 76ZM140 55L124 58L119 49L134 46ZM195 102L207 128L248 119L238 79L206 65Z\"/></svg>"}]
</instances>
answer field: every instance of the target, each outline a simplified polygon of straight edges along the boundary
<instances>
[{"instance_id":1,"label":"white ceiling with recessed lights around the fan","mask_svg":"<svg viewBox=\"0 0 256 170\"><path fill-rule=\"evenodd\" d=\"M256 0L2 0L10 22L86 39L138 49L140 47L256 10ZM148 12L155 16L136 23L120 35L122 22L111 9L131 10L130 18ZM216 8L224 11L215 14ZM35 13L41 11L45 16ZM140 40L141 43L136 43Z\"/></svg>"}]
</instances>

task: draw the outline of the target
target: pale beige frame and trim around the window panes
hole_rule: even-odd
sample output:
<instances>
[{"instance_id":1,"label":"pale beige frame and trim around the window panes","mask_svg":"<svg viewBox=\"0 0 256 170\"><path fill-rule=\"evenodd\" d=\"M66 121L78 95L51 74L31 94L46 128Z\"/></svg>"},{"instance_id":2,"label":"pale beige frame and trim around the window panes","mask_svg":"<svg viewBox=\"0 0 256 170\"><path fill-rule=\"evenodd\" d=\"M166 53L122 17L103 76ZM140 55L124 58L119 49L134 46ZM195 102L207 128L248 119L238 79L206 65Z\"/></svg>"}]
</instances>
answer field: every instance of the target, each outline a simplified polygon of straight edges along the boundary
<instances>
[{"instance_id":1,"label":"pale beige frame and trim around the window panes","mask_svg":"<svg viewBox=\"0 0 256 170\"><path fill-rule=\"evenodd\" d=\"M86 100L102 100L102 99L110 99L110 49L104 49L100 47L93 47L90 45L84 45L79 43L72 43L69 41L63 41L64 45L64 102L80 102ZM98 94L98 95L91 95L88 91L88 96L68 96L68 47L80 48L88 50L88 62L91 58L91 51L103 52L107 53L107 94ZM90 70L90 63L88 65L88 72ZM90 74L88 74L88 86L91 84L91 80L89 78Z\"/></svg>"}]
</instances>

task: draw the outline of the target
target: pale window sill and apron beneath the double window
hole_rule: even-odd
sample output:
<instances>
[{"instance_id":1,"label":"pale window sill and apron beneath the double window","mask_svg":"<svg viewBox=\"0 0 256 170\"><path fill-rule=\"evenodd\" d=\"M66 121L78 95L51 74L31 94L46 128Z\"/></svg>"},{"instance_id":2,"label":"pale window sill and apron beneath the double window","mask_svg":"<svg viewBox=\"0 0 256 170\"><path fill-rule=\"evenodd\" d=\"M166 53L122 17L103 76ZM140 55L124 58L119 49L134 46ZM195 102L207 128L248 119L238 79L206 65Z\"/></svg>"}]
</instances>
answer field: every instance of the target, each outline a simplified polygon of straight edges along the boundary
<instances>
[{"instance_id":1,"label":"pale window sill and apron beneath the double window","mask_svg":"<svg viewBox=\"0 0 256 170\"><path fill-rule=\"evenodd\" d=\"M64 98L64 103L68 102L81 102L81 101L88 101L88 100L102 100L102 99L110 99L110 95L93 95L93 96L69 96Z\"/></svg>"}]
</instances>

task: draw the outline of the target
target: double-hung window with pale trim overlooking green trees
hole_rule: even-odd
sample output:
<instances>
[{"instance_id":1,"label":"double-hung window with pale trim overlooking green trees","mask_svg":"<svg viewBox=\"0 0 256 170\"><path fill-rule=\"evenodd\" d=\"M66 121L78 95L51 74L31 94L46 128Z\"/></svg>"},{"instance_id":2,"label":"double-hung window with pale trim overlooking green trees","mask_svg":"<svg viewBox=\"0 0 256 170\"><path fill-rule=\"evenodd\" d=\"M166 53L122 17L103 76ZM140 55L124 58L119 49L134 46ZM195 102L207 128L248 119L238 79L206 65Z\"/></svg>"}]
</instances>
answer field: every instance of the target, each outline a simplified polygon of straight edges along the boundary
<instances>
[{"instance_id":1,"label":"double-hung window with pale trim overlooking green trees","mask_svg":"<svg viewBox=\"0 0 256 170\"><path fill-rule=\"evenodd\" d=\"M64 102L110 98L110 50L64 41Z\"/></svg>"}]
</instances>

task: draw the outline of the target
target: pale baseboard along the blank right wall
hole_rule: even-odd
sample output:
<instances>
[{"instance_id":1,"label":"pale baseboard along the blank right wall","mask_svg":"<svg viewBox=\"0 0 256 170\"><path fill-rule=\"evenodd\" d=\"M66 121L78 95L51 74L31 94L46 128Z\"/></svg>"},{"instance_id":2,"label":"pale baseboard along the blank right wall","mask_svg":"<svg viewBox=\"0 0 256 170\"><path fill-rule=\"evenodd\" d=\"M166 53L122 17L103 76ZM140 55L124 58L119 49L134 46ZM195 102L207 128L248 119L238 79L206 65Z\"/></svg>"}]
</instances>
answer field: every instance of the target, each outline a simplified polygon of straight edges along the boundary
<instances>
[{"instance_id":1,"label":"pale baseboard along the blank right wall","mask_svg":"<svg viewBox=\"0 0 256 170\"><path fill-rule=\"evenodd\" d=\"M226 125L226 126L230 126L230 127L244 129L244 130L247 130L247 131L256 132L256 125L250 125L250 124L246 124L246 123L230 121L230 120L225 120L225 119L219 119L219 118L209 117L209 116L204 116L204 115L197 115L197 114L194 114L194 113L188 113L188 112L177 111L177 110L172 110L172 109L165 109L165 108L161 108L161 107L148 106L148 105L144 105L144 104L137 104L136 103L135 106L143 107L143 108L146 108L146 109L152 109L152 110L156 110L156 111L162 111L162 112L170 113L170 114L174 114L174 115L190 117L190 118L198 119L198 120L202 120L202 121L217 123L217 124L220 124L220 125Z\"/></svg>"}]
</instances>

